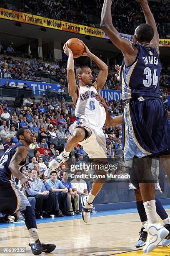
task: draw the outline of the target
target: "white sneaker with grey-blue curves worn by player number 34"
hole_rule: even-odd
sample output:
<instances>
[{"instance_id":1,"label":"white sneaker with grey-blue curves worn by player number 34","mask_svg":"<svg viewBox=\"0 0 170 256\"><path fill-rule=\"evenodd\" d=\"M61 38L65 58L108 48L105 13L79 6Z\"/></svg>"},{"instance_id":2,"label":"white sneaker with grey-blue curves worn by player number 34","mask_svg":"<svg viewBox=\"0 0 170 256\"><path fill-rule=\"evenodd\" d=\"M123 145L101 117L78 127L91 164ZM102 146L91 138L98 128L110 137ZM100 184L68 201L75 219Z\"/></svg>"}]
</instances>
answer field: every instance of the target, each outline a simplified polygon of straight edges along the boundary
<instances>
[{"instance_id":1,"label":"white sneaker with grey-blue curves worn by player number 34","mask_svg":"<svg viewBox=\"0 0 170 256\"><path fill-rule=\"evenodd\" d=\"M157 223L147 223L145 224L145 229L148 231L148 237L146 245L143 248L143 253L148 254L169 234L169 231Z\"/></svg>"}]
</instances>

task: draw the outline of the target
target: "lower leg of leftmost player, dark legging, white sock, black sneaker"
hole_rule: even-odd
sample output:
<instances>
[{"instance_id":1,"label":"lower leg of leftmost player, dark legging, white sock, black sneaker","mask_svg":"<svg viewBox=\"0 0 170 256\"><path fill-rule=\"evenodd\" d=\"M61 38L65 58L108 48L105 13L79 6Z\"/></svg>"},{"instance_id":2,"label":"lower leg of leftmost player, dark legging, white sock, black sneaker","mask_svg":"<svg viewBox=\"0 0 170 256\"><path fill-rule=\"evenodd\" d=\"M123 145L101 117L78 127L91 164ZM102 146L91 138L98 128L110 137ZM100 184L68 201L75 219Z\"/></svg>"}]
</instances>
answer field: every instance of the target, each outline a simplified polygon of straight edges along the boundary
<instances>
[{"instance_id":1,"label":"lower leg of leftmost player, dark legging, white sock, black sneaker","mask_svg":"<svg viewBox=\"0 0 170 256\"><path fill-rule=\"evenodd\" d=\"M31 247L32 253L34 255L39 255L43 251L45 253L54 251L56 247L55 244L45 244L40 242L37 232L35 213L32 207L27 205L26 209L23 210L23 214L25 217L25 225L28 228L28 233L30 236L29 246Z\"/></svg>"}]
</instances>

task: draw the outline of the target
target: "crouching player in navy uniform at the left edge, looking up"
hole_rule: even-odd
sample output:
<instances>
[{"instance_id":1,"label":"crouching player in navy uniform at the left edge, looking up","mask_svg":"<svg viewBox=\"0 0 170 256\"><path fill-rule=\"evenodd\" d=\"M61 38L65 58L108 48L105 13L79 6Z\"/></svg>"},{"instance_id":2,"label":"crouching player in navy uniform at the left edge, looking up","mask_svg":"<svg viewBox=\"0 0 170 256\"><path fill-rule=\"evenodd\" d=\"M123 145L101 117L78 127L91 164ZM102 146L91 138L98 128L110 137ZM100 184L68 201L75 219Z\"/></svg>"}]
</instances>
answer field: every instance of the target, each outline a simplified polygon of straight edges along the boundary
<instances>
[{"instance_id":1,"label":"crouching player in navy uniform at the left edge, looking up","mask_svg":"<svg viewBox=\"0 0 170 256\"><path fill-rule=\"evenodd\" d=\"M21 186L27 189L30 188L29 181L31 180L20 172L20 168L26 162L28 147L33 141L33 134L29 129L21 128L17 131L17 138L20 142L8 148L0 156L0 212L11 215L15 212L23 211L25 225L30 236L29 246L32 253L35 255L43 251L50 253L55 249L55 245L40 242L35 213L27 197L20 192L15 182L15 178L17 178L20 180Z\"/></svg>"}]
</instances>

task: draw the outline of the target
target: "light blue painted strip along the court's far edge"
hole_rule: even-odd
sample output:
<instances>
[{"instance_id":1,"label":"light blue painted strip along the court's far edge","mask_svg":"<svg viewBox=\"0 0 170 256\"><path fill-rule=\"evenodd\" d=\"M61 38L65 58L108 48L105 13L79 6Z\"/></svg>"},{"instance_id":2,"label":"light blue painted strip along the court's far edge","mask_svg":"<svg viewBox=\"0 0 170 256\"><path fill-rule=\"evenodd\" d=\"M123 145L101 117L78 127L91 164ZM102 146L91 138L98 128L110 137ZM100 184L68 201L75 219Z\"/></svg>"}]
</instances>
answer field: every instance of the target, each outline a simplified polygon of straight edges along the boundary
<instances>
[{"instance_id":1,"label":"light blue painted strip along the court's far edge","mask_svg":"<svg viewBox=\"0 0 170 256\"><path fill-rule=\"evenodd\" d=\"M170 209L170 205L164 205L165 209ZM125 213L134 213L138 212L136 208L129 208L129 209L122 209L122 210L110 210L110 211L102 211L96 212L91 215L91 218L100 217L100 216L109 216L109 215L116 215L116 214L125 214ZM42 220L36 220L37 224L41 223L48 223L48 222L57 222L57 221L64 221L64 220L75 220L81 219L81 215L74 215L74 216L65 216L65 217L55 217L55 218L43 218ZM18 227L18 226L25 226L25 222L15 222L15 223L0 223L0 228L11 228L11 227Z\"/></svg>"}]
</instances>

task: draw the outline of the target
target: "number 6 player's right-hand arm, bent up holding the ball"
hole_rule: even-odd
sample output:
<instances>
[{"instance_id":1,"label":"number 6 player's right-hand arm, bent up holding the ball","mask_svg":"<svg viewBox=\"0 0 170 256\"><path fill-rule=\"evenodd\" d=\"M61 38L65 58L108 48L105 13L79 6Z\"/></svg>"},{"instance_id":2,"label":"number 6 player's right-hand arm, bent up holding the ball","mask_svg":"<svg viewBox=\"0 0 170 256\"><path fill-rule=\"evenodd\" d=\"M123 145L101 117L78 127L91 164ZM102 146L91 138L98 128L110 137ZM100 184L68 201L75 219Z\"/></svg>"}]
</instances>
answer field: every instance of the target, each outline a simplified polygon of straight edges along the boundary
<instances>
[{"instance_id":1,"label":"number 6 player's right-hand arm, bent up holding the ball","mask_svg":"<svg viewBox=\"0 0 170 256\"><path fill-rule=\"evenodd\" d=\"M97 66L100 69L100 72L98 73L96 82L94 84L97 88L97 91L100 93L100 91L102 90L102 87L104 86L107 80L108 66L97 56L92 54L85 44L84 44L84 53L82 54L82 56L88 56L90 59L92 59L95 62L95 64L97 64Z\"/></svg>"}]
</instances>

